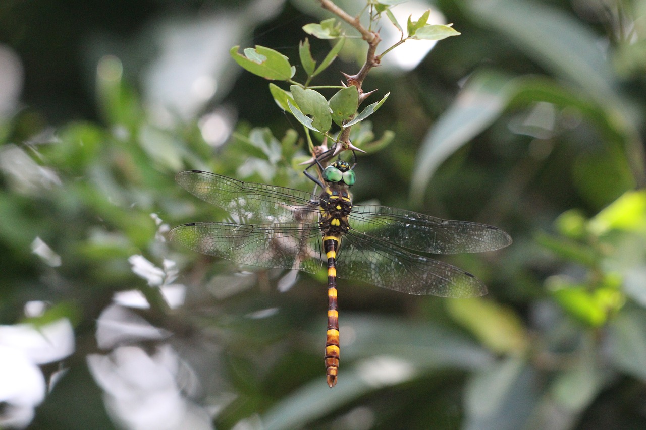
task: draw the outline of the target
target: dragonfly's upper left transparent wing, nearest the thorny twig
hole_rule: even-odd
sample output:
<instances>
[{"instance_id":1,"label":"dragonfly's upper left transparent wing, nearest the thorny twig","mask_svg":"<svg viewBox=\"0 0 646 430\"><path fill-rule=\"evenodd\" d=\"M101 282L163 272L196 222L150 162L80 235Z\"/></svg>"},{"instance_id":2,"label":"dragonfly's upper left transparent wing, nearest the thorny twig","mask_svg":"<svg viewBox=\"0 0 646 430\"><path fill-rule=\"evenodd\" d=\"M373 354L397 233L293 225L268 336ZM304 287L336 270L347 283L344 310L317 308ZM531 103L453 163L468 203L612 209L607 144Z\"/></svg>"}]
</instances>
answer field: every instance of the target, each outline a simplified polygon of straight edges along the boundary
<instances>
[{"instance_id":1,"label":"dragonfly's upper left transparent wing, nearest the thorny twig","mask_svg":"<svg viewBox=\"0 0 646 430\"><path fill-rule=\"evenodd\" d=\"M311 212L318 196L275 185L244 183L201 170L186 170L175 176L183 189L221 209L250 221L299 221Z\"/></svg>"}]
</instances>

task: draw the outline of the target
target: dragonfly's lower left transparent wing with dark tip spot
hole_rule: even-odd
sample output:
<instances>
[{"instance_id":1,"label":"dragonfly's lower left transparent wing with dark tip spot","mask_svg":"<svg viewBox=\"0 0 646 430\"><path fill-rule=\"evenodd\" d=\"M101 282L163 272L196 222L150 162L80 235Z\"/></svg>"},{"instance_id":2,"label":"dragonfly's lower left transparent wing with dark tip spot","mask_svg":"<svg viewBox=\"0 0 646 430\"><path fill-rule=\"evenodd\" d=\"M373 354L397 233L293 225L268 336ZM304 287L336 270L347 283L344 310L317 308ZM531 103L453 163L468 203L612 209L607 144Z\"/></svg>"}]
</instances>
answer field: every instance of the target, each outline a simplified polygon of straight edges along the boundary
<instances>
[{"instance_id":1,"label":"dragonfly's lower left transparent wing with dark tip spot","mask_svg":"<svg viewBox=\"0 0 646 430\"><path fill-rule=\"evenodd\" d=\"M317 224L191 223L168 236L193 251L251 266L316 273L323 264Z\"/></svg>"}]
</instances>

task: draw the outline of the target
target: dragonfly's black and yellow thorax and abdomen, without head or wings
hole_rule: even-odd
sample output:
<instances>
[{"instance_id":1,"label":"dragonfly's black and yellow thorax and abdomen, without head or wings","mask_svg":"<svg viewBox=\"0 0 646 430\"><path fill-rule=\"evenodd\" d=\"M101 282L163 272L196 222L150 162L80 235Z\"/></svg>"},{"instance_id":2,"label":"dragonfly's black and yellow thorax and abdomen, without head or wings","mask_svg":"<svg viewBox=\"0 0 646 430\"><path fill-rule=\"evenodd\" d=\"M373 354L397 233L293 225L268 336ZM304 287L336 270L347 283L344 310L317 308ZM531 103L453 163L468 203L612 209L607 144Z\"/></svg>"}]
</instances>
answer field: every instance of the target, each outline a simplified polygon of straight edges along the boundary
<instances>
[{"instance_id":1,"label":"dragonfly's black and yellow thorax and abdomen, without head or wings","mask_svg":"<svg viewBox=\"0 0 646 430\"><path fill-rule=\"evenodd\" d=\"M329 387L337 384L339 372L339 306L337 303L337 252L341 238L348 232L348 214L352 201L348 187L333 184L320 197L320 229L323 234L323 250L328 259L328 335L325 347L325 366Z\"/></svg>"}]
</instances>

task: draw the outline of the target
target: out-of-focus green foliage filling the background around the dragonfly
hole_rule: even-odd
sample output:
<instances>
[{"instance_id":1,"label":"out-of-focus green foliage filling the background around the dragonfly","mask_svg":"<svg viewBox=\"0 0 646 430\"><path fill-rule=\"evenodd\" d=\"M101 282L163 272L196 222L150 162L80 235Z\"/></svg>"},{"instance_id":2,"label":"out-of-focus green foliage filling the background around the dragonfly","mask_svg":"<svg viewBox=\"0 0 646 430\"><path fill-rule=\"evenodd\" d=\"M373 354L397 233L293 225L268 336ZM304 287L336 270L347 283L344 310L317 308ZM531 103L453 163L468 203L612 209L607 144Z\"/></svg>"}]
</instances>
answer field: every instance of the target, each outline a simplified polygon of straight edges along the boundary
<instances>
[{"instance_id":1,"label":"out-of-focus green foliage filling the background around the dragonfly","mask_svg":"<svg viewBox=\"0 0 646 430\"><path fill-rule=\"evenodd\" d=\"M26 16L28 6L19 3L2 6L3 22ZM156 4L156 12L171 22L197 20L204 13L198 6L213 14L227 6L180 3L169 10ZM339 5L351 14L361 7ZM32 428L113 425L85 359L107 353L96 343L95 322L115 292L132 289L151 304L138 314L172 333L163 342L193 368L201 384L194 402L216 411L218 429L258 422L270 429L646 426L646 2L435 5L461 36L439 43L414 70L376 69L366 79L366 90L379 88L375 100L390 97L371 123L355 127L355 143L381 136L359 159L355 201L377 198L491 223L510 232L514 245L448 259L485 280L486 298L342 285L342 358L333 390L321 364L322 280L300 276L279 293L280 273L256 272L245 283L231 275L234 265L163 239L169 226L226 216L176 186L180 170L311 190L297 165L308 157L291 129L300 126L276 107L276 89L233 74L226 94L216 93L193 117L160 117L136 79L140 63L128 61L154 51L152 37L100 26L124 38L118 52L105 39L83 35L78 17L55 8L56 28L67 25L79 35L65 40L69 48L94 43L85 61L100 58L90 68L65 57L65 67L75 70L67 81L72 94L84 94L83 79L95 83L94 93L70 103L58 87L39 85L48 77L64 81L65 67L52 59L48 68L33 57L59 41L43 36L40 21L4 26L5 43L26 58L26 80L25 104L0 119L0 322L65 316L76 336L76 353L61 363L70 370L37 409ZM134 19L121 15L121 23ZM136 16L145 16L138 25L153 20L141 11ZM253 41L236 43L272 46L295 59L306 36L300 26L327 18L317 2L295 1L273 21L254 23L262 32ZM101 21L92 15L88 22ZM37 51L34 43L45 46ZM313 59L330 50L309 43ZM229 61L233 45L219 61ZM337 83L339 70L355 72L355 46L344 46L317 81ZM94 108L70 110L74 103ZM202 121L221 105L239 118L226 143L213 145ZM33 251L36 238L59 265ZM159 289L132 272L135 254L158 267L165 259L178 262L178 282L187 285L182 307L171 310ZM31 300L48 309L29 320L23 307Z\"/></svg>"}]
</instances>

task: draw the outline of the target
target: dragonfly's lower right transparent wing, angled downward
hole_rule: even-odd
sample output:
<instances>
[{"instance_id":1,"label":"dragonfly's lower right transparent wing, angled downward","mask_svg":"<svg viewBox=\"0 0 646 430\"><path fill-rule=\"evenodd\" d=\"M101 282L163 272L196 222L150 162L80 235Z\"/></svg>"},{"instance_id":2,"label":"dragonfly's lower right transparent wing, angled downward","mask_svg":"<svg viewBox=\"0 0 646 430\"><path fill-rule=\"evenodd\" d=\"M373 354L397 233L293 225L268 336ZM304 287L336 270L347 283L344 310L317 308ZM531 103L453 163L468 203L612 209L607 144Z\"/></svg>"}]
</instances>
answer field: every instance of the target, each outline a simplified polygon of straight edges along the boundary
<instances>
[{"instance_id":1,"label":"dragonfly's lower right transparent wing, angled downward","mask_svg":"<svg viewBox=\"0 0 646 430\"><path fill-rule=\"evenodd\" d=\"M342 240L337 276L408 294L455 298L486 294L485 284L469 272L355 231Z\"/></svg>"}]
</instances>

